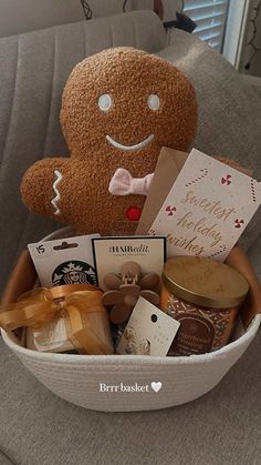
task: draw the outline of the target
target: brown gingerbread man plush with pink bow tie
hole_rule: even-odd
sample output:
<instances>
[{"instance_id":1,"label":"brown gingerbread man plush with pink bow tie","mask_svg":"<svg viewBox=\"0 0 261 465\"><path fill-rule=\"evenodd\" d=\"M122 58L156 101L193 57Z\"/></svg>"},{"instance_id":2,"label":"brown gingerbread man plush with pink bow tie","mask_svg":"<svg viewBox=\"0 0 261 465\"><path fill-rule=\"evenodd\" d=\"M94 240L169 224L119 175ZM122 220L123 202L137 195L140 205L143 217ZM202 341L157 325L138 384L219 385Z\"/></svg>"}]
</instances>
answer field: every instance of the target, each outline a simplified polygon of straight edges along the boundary
<instances>
[{"instance_id":1,"label":"brown gingerbread man plush with pink bow tie","mask_svg":"<svg viewBox=\"0 0 261 465\"><path fill-rule=\"evenodd\" d=\"M133 233L161 146L188 151L197 119L195 90L171 63L132 48L102 51L74 68L63 92L71 158L33 164L22 199L77 233Z\"/></svg>"}]
</instances>

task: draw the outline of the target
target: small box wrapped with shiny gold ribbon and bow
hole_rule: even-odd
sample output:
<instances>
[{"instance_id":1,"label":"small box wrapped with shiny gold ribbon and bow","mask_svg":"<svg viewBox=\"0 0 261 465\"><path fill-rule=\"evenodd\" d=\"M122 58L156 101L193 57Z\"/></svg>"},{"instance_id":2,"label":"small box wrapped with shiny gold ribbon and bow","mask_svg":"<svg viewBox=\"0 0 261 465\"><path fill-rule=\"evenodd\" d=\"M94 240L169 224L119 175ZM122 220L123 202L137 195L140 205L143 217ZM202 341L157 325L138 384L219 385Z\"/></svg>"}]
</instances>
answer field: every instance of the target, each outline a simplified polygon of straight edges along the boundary
<instances>
[{"instance_id":1,"label":"small box wrapped with shiny gold ribbon and bow","mask_svg":"<svg viewBox=\"0 0 261 465\"><path fill-rule=\"evenodd\" d=\"M35 289L1 309L6 331L27 327L28 348L43 352L113 354L102 292L90 284Z\"/></svg>"}]
</instances>

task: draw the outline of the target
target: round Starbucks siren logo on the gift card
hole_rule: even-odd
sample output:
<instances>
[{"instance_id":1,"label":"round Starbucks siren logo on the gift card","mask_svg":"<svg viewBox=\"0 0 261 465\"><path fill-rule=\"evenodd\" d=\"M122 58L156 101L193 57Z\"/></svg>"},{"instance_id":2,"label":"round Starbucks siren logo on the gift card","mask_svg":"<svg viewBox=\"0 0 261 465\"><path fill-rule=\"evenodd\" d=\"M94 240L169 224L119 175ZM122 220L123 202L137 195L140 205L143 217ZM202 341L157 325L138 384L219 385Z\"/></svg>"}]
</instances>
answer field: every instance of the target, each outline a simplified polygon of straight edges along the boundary
<instances>
[{"instance_id":1,"label":"round Starbucks siren logo on the gift card","mask_svg":"<svg viewBox=\"0 0 261 465\"><path fill-rule=\"evenodd\" d=\"M64 284L97 285L94 267L88 263L80 261L61 263L53 272L52 282L54 286Z\"/></svg>"}]
</instances>

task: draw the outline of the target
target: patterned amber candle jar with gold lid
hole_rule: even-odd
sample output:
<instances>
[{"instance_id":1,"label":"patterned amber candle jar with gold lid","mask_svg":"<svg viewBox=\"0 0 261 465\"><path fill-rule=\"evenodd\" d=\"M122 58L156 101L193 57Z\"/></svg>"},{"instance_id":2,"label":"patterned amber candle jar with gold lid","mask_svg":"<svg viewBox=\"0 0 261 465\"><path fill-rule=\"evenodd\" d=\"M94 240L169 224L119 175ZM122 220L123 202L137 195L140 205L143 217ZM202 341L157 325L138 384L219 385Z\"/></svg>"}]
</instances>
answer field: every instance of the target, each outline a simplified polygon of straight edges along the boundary
<instances>
[{"instance_id":1,"label":"patterned amber candle jar with gold lid","mask_svg":"<svg viewBox=\"0 0 261 465\"><path fill-rule=\"evenodd\" d=\"M164 266L160 309L180 322L168 355L192 355L226 345L249 291L237 270L211 259L177 256Z\"/></svg>"}]
</instances>

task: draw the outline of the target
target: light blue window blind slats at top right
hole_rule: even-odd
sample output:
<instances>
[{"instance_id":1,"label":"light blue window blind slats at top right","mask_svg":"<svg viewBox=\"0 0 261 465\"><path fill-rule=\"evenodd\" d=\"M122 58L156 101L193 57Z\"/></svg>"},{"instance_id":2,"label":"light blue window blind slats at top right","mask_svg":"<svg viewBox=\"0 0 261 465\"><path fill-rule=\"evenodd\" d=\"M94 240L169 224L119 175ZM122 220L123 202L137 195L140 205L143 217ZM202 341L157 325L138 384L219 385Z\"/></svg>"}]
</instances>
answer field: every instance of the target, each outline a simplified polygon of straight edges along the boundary
<instances>
[{"instance_id":1,"label":"light blue window blind slats at top right","mask_svg":"<svg viewBox=\"0 0 261 465\"><path fill-rule=\"evenodd\" d=\"M229 0L185 0L184 12L197 22L194 34L221 52Z\"/></svg>"}]
</instances>

